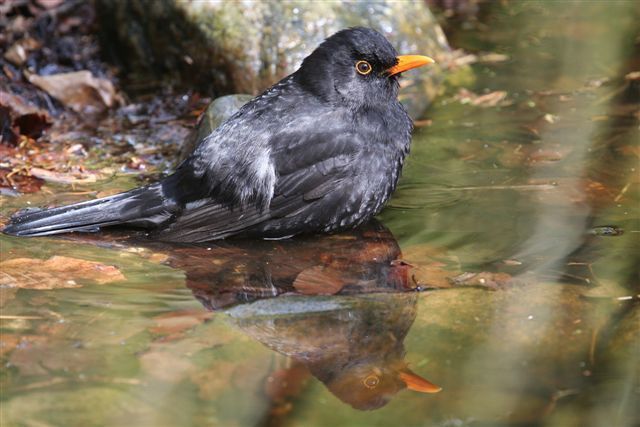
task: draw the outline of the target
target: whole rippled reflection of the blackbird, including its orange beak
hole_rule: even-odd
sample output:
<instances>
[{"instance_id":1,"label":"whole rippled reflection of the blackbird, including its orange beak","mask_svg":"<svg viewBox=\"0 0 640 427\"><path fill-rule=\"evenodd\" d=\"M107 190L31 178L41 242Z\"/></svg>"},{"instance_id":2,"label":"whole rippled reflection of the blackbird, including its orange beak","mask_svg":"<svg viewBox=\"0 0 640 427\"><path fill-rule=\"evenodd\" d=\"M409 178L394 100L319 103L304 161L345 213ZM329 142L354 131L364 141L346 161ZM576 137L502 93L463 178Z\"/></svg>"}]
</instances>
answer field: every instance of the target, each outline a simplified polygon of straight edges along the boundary
<instances>
[{"instance_id":1,"label":"whole rippled reflection of the blackbird, including its orange beak","mask_svg":"<svg viewBox=\"0 0 640 427\"><path fill-rule=\"evenodd\" d=\"M205 307L225 310L243 332L306 366L354 408L381 407L405 388L440 390L404 361L418 294L406 292L408 267L397 262L387 229L374 222L259 243L173 247L169 264L185 270ZM335 295L321 296L327 293Z\"/></svg>"}]
</instances>

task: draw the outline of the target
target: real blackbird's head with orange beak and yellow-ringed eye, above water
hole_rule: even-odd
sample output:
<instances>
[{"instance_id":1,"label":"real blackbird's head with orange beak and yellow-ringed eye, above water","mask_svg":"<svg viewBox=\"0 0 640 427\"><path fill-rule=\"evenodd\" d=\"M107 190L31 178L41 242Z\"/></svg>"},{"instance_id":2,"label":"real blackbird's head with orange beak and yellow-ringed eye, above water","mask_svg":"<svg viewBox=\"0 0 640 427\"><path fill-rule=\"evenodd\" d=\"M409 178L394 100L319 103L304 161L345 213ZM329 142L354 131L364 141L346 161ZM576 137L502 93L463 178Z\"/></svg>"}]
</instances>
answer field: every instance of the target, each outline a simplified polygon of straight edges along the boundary
<instances>
[{"instance_id":1,"label":"real blackbird's head with orange beak and yellow-ringed eye, above water","mask_svg":"<svg viewBox=\"0 0 640 427\"><path fill-rule=\"evenodd\" d=\"M356 27L326 39L304 59L296 76L326 101L374 105L397 98L400 73L433 62L427 56L398 56L382 34Z\"/></svg>"}]
</instances>

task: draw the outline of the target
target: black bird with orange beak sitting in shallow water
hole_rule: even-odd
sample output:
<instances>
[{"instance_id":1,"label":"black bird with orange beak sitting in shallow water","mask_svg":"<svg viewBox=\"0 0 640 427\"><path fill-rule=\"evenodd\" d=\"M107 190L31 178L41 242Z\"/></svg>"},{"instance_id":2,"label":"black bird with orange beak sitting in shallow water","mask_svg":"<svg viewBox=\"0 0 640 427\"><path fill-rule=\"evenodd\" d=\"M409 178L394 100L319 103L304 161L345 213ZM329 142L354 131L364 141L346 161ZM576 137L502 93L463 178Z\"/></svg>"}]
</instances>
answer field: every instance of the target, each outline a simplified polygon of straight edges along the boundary
<instances>
[{"instance_id":1,"label":"black bird with orange beak sitting in shallow water","mask_svg":"<svg viewBox=\"0 0 640 427\"><path fill-rule=\"evenodd\" d=\"M398 56L370 28L339 31L162 181L20 212L3 231L44 236L125 225L158 240L202 242L355 227L382 209L409 151L412 122L397 99L398 76L433 62Z\"/></svg>"}]
</instances>

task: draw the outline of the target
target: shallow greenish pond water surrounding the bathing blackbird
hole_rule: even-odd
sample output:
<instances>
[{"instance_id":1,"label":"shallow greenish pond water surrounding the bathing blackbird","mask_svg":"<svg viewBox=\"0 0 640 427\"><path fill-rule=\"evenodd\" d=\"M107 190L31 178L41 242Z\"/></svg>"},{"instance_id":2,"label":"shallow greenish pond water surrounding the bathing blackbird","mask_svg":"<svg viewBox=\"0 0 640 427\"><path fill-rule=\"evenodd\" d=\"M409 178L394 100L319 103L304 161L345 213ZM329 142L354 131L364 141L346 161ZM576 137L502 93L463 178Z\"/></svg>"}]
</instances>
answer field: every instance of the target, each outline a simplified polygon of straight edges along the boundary
<instances>
[{"instance_id":1,"label":"shallow greenish pond water surrounding the bathing blackbird","mask_svg":"<svg viewBox=\"0 0 640 427\"><path fill-rule=\"evenodd\" d=\"M2 425L637 425L638 22L632 1L495 2L454 28L509 60L452 73L384 225L0 237L3 261L99 263L21 270L81 287L0 288Z\"/></svg>"}]
</instances>

